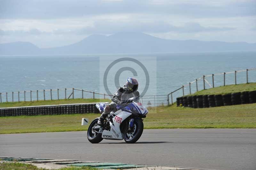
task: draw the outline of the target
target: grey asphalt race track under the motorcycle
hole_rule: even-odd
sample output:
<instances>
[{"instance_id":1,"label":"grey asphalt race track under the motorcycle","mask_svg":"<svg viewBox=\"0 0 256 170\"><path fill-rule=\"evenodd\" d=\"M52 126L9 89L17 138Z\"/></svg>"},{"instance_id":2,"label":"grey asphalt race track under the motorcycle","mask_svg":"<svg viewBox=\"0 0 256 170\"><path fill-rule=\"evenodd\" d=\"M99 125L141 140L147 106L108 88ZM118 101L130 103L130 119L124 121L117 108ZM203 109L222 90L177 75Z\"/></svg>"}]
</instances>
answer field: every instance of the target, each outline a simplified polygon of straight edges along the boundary
<instances>
[{"instance_id":1,"label":"grey asphalt race track under the motorcycle","mask_svg":"<svg viewBox=\"0 0 256 170\"><path fill-rule=\"evenodd\" d=\"M135 144L92 144L85 131L8 134L0 135L0 156L255 170L256 129L146 129Z\"/></svg>"}]
</instances>

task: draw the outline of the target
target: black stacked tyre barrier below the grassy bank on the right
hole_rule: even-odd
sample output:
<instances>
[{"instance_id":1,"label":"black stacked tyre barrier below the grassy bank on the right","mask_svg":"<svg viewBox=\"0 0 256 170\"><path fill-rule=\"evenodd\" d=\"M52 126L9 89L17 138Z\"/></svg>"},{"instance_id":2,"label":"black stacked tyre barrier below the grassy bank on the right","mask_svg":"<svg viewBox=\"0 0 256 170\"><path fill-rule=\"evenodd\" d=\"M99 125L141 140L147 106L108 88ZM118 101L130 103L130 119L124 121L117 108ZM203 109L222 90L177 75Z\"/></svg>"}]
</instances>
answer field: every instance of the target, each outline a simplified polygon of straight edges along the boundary
<instances>
[{"instance_id":1,"label":"black stacked tyre barrier below the grassy bank on the right","mask_svg":"<svg viewBox=\"0 0 256 170\"><path fill-rule=\"evenodd\" d=\"M256 103L256 90L223 95L218 94L177 97L177 106L182 104L185 107L192 108L219 107L250 103Z\"/></svg>"}]
</instances>

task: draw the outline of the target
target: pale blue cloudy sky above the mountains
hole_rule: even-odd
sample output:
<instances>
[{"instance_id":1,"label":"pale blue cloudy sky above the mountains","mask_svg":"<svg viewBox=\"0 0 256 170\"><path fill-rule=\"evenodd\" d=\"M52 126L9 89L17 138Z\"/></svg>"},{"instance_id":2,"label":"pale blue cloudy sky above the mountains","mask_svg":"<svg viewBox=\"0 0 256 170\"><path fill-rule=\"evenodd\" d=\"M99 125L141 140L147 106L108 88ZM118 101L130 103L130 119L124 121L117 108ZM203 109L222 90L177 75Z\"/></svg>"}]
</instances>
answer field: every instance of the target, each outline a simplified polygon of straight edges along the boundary
<instances>
[{"instance_id":1,"label":"pale blue cloudy sky above the mountains","mask_svg":"<svg viewBox=\"0 0 256 170\"><path fill-rule=\"evenodd\" d=\"M256 43L256 0L0 0L0 43L68 45L92 34Z\"/></svg>"}]
</instances>

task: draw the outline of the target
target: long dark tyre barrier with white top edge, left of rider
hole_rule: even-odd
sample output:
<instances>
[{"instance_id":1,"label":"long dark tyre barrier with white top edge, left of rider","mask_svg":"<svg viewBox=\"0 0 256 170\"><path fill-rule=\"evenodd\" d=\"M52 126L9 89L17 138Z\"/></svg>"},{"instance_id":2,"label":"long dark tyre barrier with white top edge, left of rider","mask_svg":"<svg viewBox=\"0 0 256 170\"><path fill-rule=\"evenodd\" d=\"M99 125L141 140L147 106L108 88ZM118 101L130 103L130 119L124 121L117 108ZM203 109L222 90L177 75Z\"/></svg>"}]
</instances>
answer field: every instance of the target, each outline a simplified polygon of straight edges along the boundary
<instances>
[{"instance_id":1,"label":"long dark tyre barrier with white top edge, left of rider","mask_svg":"<svg viewBox=\"0 0 256 170\"><path fill-rule=\"evenodd\" d=\"M96 103L95 103L96 104ZM34 116L58 115L77 113L100 113L95 104L65 104L48 106L29 106L15 108L0 108L0 117L3 116Z\"/></svg>"}]
</instances>

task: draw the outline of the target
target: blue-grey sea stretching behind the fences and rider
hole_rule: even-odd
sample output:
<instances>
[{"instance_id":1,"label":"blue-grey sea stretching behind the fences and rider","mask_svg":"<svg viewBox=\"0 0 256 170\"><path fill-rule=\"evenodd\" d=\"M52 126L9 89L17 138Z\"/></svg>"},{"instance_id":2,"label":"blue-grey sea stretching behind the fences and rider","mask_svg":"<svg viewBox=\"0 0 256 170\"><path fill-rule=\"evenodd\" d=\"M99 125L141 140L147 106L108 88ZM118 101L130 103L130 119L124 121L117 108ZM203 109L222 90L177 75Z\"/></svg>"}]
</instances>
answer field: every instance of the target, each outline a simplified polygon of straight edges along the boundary
<instances>
[{"instance_id":1,"label":"blue-grey sea stretching behind the fences and rider","mask_svg":"<svg viewBox=\"0 0 256 170\"><path fill-rule=\"evenodd\" d=\"M234 71L256 68L256 52L204 52L155 54L87 54L66 56L0 56L0 92L2 102L7 100L42 100L68 98L72 88L95 92L96 98L113 94L123 86L127 77L139 81L139 91L144 96L167 95L184 85L184 93L196 91L196 79L214 75L214 86L235 84ZM222 74L218 74L222 73ZM105 77L105 78L104 78ZM237 84L246 82L246 71L236 73ZM104 82L105 81L105 82ZM256 70L248 71L248 81L256 82ZM189 82L193 82L189 90ZM198 90L204 88L203 79L197 82ZM107 87L107 88L106 88ZM212 76L205 77L205 88L212 87ZM13 94L12 94L13 92ZM182 89L173 97L182 95ZM84 98L93 93L83 92ZM75 90L75 98L82 91ZM72 95L70 96L72 97Z\"/></svg>"}]
</instances>

